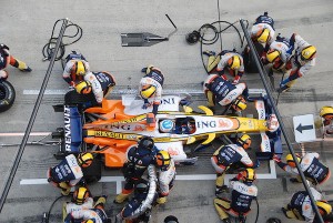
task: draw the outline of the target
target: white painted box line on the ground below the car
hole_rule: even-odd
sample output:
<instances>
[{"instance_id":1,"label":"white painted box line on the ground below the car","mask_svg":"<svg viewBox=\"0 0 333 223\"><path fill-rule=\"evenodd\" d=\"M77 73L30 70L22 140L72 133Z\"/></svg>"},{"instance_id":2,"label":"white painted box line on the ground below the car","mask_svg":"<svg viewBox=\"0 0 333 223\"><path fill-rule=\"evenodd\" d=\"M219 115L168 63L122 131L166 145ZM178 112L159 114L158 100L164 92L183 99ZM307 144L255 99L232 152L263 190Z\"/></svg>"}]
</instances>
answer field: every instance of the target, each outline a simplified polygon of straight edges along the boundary
<instances>
[{"instance_id":1,"label":"white painted box line on the ground below the car","mask_svg":"<svg viewBox=\"0 0 333 223\"><path fill-rule=\"evenodd\" d=\"M256 179L276 179L275 163L273 160L269 163L270 173L258 173ZM229 183L229 180L234 178L235 174L225 174L225 183ZM176 175L176 181L214 181L216 180L216 174L193 174L193 175ZM124 181L123 176L102 176L99 183L117 183L117 193L120 193L122 190L122 182ZM20 185L43 185L49 184L47 179L22 179Z\"/></svg>"}]
</instances>

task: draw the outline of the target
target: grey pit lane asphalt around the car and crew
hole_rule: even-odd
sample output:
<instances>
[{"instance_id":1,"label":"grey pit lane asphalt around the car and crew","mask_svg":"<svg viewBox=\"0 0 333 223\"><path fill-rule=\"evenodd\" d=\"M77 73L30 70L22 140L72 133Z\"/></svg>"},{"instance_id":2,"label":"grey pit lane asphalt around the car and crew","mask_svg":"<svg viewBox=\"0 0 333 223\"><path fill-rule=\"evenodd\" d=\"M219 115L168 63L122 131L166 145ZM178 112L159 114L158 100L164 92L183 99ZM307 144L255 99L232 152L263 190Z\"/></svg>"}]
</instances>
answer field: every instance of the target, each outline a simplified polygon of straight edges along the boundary
<instances>
[{"instance_id":1,"label":"grey pit lane asphalt around the car and crew","mask_svg":"<svg viewBox=\"0 0 333 223\"><path fill-rule=\"evenodd\" d=\"M333 33L331 0L281 0L274 2L263 1L230 1L220 2L221 20L235 21L239 18L253 21L263 11L269 11L275 19L276 33L291 36L300 33L306 41L317 47L319 55L315 68L309 75L297 81L291 92L281 95L279 109L289 126L292 136L291 118L297 114L316 113L322 105L332 104L332 62L331 37ZM200 89L200 82L205 78L201 64L199 45L188 45L184 36L199 29L203 23L218 20L216 1L6 1L1 3L0 20L1 42L7 43L11 52L19 59L27 61L33 69L32 73L20 73L9 68L9 80L17 90L17 101L11 110L0 114L0 132L23 132L31 114L37 95L26 95L23 90L39 90L47 70L47 63L42 62L41 49L51 34L56 20L69 17L73 22L83 28L83 38L67 48L80 49L89 59L93 70L109 70L117 80L118 87L127 89L130 85L135 89L141 78L140 70L145 64L152 63L160 67L167 74L165 89L183 89L184 87ZM149 11L149 13L148 13ZM168 13L175 22L179 31L170 38L169 42L159 43L151 48L121 48L120 33L143 32L167 36L172 30L165 19ZM223 47L239 48L239 40L233 32L223 34ZM209 50L220 49L219 45L206 47ZM48 89L67 89L61 80L61 65L54 64ZM275 87L281 75L275 77ZM262 88L258 75L245 74L250 88ZM62 114L54 113L51 105L61 102L61 95L46 95L41 104L38 118L32 131L54 131L62 124ZM21 142L22 138L0 138L0 142ZM306 143L306 150L319 151L321 158L332 169L332 143ZM7 179L9 168L12 164L17 148L0 148L0 184ZM20 185L21 179L44 178L46 170L58 163L52 156L57 148L27 146L21 164L14 178L7 203L0 213L0 222L40 222L42 212L48 211L51 202L59 195L50 185ZM206 154L205 154L206 153ZM201 154L208 158L204 151ZM205 155L205 156L204 156ZM202 162L202 163L201 163ZM179 174L196 174L202 171L200 166L210 171L208 159L200 159L198 165L179 168ZM287 175L279 169L276 180L260 180L259 222L263 223L270 216L279 216L282 222L295 222L286 220L280 207L286 204L293 192L303 190L301 184L294 185L287 181ZM117 171L107 171L117 175ZM211 173L211 172L210 172ZM332 199L332 179L322 186L327 199ZM108 213L114 215L121 205L112 204L115 195L114 183L100 183L91 186L93 194L108 194ZM175 189L165 205L154 210L154 223L160 223L169 215L174 214L180 222L219 222L213 207L214 197L213 181L178 181ZM249 222L254 222L256 206ZM51 222L60 219L60 204L53 209L56 216Z\"/></svg>"}]
</instances>

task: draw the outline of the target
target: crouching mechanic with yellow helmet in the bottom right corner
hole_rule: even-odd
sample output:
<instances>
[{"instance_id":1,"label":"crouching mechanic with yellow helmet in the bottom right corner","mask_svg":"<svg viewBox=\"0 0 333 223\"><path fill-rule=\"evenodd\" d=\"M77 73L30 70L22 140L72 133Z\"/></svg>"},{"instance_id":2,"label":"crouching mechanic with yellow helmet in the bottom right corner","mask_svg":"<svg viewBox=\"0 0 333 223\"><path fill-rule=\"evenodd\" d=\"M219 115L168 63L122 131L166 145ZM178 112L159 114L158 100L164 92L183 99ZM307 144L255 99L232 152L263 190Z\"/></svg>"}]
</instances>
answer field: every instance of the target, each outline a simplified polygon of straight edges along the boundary
<instances>
[{"instance_id":1,"label":"crouching mechanic with yellow helmet in the bottom right corner","mask_svg":"<svg viewBox=\"0 0 333 223\"><path fill-rule=\"evenodd\" d=\"M310 187L310 191L324 222L332 222L332 206L327 203L327 201L323 200L323 195L314 187ZM309 223L320 222L319 216L316 216L312 206L307 191L299 191L294 193L291 202L285 207L282 207L282 212L287 219L305 221Z\"/></svg>"}]
</instances>

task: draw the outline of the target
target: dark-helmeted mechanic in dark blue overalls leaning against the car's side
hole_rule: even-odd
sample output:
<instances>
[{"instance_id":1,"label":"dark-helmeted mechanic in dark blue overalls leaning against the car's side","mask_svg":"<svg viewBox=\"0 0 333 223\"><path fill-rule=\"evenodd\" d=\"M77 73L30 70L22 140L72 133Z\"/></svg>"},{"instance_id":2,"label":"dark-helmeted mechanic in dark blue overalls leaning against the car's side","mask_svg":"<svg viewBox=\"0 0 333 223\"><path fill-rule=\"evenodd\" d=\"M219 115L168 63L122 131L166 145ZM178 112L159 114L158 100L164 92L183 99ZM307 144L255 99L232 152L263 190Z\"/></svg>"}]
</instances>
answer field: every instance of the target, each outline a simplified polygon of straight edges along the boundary
<instances>
[{"instance_id":1,"label":"dark-helmeted mechanic in dark blue overalls leaning against the car's side","mask_svg":"<svg viewBox=\"0 0 333 223\"><path fill-rule=\"evenodd\" d=\"M132 145L128 150L128 160L123 164L122 172L125 179L122 192L114 199L114 203L123 203L133 192L134 185L140 181L147 168L157 163L158 149L154 146L152 138L143 136L138 145Z\"/></svg>"}]
</instances>

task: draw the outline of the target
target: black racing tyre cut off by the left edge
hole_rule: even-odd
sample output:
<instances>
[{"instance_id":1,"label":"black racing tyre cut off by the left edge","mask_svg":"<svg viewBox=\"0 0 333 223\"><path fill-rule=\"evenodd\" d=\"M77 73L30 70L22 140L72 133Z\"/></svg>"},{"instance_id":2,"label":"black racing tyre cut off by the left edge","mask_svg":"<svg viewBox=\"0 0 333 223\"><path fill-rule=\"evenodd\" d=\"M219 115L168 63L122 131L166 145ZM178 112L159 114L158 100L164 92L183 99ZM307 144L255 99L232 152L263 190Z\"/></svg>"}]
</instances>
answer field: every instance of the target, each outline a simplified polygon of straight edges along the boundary
<instances>
[{"instance_id":1,"label":"black racing tyre cut off by the left edge","mask_svg":"<svg viewBox=\"0 0 333 223\"><path fill-rule=\"evenodd\" d=\"M16 90L8 81L0 81L0 112L11 108L16 100Z\"/></svg>"}]
</instances>

